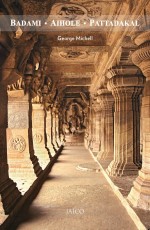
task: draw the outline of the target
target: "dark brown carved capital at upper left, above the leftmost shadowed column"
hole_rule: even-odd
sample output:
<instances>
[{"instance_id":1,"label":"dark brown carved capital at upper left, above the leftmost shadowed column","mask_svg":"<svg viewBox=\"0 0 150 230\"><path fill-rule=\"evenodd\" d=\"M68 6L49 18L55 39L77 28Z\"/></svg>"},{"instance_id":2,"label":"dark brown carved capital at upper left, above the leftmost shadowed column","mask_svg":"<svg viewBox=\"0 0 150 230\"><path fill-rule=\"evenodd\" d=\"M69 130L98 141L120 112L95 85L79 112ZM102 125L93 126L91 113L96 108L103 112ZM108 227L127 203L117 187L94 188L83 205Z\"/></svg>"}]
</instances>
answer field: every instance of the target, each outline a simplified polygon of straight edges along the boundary
<instances>
[{"instance_id":1,"label":"dark brown carved capital at upper left, above the leftmost shadowed column","mask_svg":"<svg viewBox=\"0 0 150 230\"><path fill-rule=\"evenodd\" d=\"M26 32L23 33L20 39L11 41L9 55L7 55L3 66L0 68L0 82L3 85L13 84L23 77L31 50L37 39L36 34Z\"/></svg>"}]
</instances>

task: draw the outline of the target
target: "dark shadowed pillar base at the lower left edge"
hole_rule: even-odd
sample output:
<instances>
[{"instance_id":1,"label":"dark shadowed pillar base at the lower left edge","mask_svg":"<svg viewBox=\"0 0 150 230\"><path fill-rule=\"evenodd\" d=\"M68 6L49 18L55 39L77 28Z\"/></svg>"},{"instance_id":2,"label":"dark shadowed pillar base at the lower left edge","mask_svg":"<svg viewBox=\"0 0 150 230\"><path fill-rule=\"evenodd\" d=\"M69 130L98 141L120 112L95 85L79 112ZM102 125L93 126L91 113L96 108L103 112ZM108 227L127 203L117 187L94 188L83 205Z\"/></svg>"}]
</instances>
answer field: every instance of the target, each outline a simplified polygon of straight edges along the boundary
<instances>
[{"instance_id":1,"label":"dark shadowed pillar base at the lower left edge","mask_svg":"<svg viewBox=\"0 0 150 230\"><path fill-rule=\"evenodd\" d=\"M0 185L1 202L5 214L9 214L21 198L21 193L11 179L7 179ZM3 213L2 213L3 214Z\"/></svg>"}]
</instances>

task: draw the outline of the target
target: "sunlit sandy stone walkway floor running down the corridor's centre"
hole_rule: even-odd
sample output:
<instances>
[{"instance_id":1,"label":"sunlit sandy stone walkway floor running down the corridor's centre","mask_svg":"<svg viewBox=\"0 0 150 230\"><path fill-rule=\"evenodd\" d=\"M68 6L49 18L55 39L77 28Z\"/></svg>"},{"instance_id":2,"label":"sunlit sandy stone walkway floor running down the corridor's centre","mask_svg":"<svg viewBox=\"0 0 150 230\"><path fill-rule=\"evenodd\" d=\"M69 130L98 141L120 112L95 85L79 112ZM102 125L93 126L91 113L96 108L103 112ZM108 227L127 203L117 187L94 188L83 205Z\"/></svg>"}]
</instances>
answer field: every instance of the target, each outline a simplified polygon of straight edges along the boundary
<instances>
[{"instance_id":1,"label":"sunlit sandy stone walkway floor running down the corridor's centre","mask_svg":"<svg viewBox=\"0 0 150 230\"><path fill-rule=\"evenodd\" d=\"M83 146L66 146L18 230L135 230L119 199Z\"/></svg>"}]
</instances>

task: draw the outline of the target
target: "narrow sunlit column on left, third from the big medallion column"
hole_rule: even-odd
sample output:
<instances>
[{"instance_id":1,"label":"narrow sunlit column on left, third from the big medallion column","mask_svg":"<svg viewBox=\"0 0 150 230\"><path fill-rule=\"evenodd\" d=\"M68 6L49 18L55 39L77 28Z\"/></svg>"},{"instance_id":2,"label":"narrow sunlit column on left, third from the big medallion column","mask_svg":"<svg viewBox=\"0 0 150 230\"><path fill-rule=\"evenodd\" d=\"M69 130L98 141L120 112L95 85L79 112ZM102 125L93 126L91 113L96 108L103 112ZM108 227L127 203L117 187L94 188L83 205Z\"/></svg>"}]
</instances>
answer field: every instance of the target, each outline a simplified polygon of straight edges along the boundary
<instances>
[{"instance_id":1,"label":"narrow sunlit column on left, third from the big medallion column","mask_svg":"<svg viewBox=\"0 0 150 230\"><path fill-rule=\"evenodd\" d=\"M52 118L51 109L46 113L46 135L47 135L47 148L50 151L51 156L55 155L55 150L52 145Z\"/></svg>"}]
</instances>

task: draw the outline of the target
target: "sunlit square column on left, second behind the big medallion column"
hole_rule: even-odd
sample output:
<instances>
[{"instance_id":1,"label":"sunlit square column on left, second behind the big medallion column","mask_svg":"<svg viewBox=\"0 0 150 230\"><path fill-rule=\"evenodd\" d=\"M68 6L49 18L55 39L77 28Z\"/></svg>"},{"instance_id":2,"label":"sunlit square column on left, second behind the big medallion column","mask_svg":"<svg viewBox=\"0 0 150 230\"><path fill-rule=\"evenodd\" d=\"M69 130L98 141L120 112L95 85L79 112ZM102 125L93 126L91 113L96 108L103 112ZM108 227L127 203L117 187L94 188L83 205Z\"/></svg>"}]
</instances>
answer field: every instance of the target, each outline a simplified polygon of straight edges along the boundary
<instances>
[{"instance_id":1,"label":"sunlit square column on left, second behind the big medallion column","mask_svg":"<svg viewBox=\"0 0 150 230\"><path fill-rule=\"evenodd\" d=\"M45 111L40 103L32 103L33 146L39 164L44 169L50 162L50 155L46 149L45 140Z\"/></svg>"}]
</instances>

